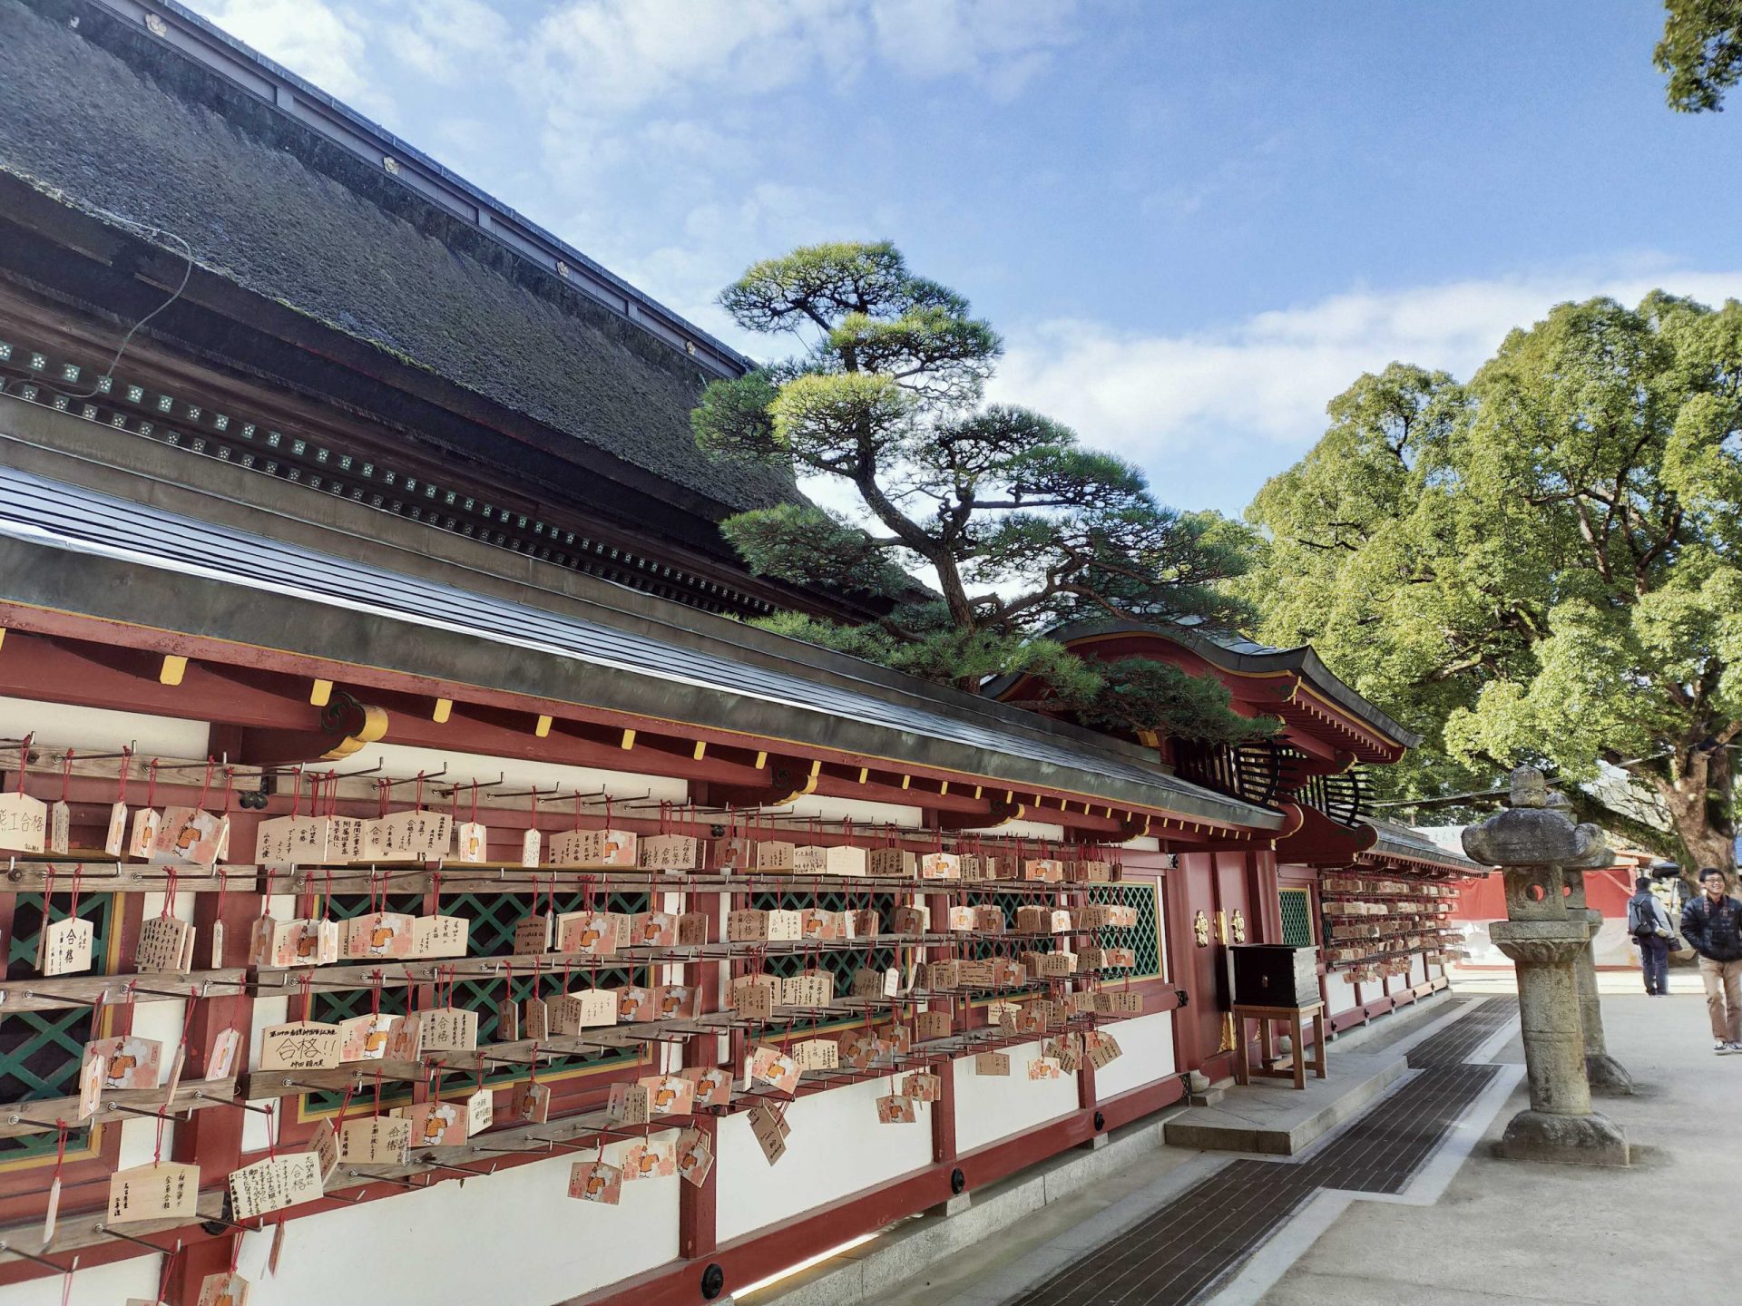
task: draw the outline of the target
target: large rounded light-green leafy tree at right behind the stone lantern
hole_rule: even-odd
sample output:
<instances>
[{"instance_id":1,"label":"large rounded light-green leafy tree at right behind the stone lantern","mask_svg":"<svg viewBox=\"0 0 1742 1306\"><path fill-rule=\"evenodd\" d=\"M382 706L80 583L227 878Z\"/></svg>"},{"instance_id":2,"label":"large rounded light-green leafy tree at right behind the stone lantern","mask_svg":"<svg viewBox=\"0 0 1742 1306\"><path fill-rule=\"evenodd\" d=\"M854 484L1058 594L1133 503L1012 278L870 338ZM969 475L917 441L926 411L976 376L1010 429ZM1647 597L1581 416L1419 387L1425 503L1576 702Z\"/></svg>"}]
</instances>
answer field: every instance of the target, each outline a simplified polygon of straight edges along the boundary
<instances>
[{"instance_id":1,"label":"large rounded light-green leafy tree at right behind the stone lantern","mask_svg":"<svg viewBox=\"0 0 1742 1306\"><path fill-rule=\"evenodd\" d=\"M1404 792L1521 761L1578 784L1603 759L1672 836L1570 785L1587 817L1733 871L1742 305L1561 305L1469 385L1392 364L1329 414L1247 510L1259 632L1312 641L1425 733Z\"/></svg>"}]
</instances>

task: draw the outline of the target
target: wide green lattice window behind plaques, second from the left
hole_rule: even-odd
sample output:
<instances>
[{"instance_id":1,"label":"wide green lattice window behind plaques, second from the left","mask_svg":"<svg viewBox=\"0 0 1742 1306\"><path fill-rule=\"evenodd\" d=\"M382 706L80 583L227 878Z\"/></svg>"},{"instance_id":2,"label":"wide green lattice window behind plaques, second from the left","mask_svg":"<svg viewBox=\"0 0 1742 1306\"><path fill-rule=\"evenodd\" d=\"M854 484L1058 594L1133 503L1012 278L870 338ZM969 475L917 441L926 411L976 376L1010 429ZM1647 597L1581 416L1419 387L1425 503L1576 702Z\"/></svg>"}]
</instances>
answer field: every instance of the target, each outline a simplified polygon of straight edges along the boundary
<instances>
[{"instance_id":1,"label":"wide green lattice window behind plaques, second from the left","mask_svg":"<svg viewBox=\"0 0 1742 1306\"><path fill-rule=\"evenodd\" d=\"M608 893L592 895L594 909L599 911L617 911L617 912L638 912L648 911L646 893ZM540 893L537 899L537 911L545 911L550 905L549 899ZM557 893L554 899L557 914L566 911L582 911L587 905L587 893L575 890L570 893ZM319 909L319 907L317 907ZM413 916L422 914L423 899L416 893L406 895L388 895L387 911L409 912ZM524 916L535 909L533 899L524 893L453 893L442 897L442 914L446 916L465 916L472 921L472 930L467 944L467 956L510 956L514 953L514 926L524 919ZM371 899L364 893L334 893L333 895L333 918L348 919L352 916L362 916L373 911ZM503 986L509 984L514 993L514 1001L521 1003L533 994L533 973L531 958L524 959L523 966L514 966L512 982L502 979L486 980L458 980L453 986L453 1003L455 1006L463 1006L467 1010L477 1012L477 1041L479 1045L496 1041L496 1003L502 1001ZM538 993L545 998L552 998L561 987L561 968L556 972L549 965L544 966L537 984ZM650 977L650 968L646 966L606 966L598 972L571 970L570 982L589 982L601 987L617 987L624 984L641 984ZM314 996L312 1017L315 1020L347 1020L355 1015L366 1015L373 1005L373 991L364 989L341 989L329 993L317 993ZM408 991L383 989L381 991L381 1010L392 1015L401 1015L406 1010ZM578 1067L606 1066L620 1060L636 1060L639 1057L636 1048L622 1050L598 1050L575 1054L571 1057L552 1057L540 1062L538 1073L545 1078L552 1074L561 1074L563 1071ZM451 1080L460 1078L460 1073L451 1073ZM486 1085L503 1085L514 1080L526 1078L526 1071L519 1067L502 1067L493 1074L484 1076ZM399 1095L409 1095L409 1090L401 1085ZM308 1094L305 1114L319 1114L324 1111L338 1111L341 1095L340 1094ZM385 1095L383 1102L388 1101ZM397 1101L397 1099L395 1099Z\"/></svg>"}]
</instances>

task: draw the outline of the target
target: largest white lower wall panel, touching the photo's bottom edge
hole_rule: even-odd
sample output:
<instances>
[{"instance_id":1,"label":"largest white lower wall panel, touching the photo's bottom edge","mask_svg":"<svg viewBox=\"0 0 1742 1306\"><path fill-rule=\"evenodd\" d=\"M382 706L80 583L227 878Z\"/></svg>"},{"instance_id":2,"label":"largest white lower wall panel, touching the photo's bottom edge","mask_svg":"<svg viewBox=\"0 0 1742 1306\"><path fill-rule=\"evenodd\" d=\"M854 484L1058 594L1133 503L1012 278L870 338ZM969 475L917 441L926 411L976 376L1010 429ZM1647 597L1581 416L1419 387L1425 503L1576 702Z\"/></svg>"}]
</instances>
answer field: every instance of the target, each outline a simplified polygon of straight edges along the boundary
<instances>
[{"instance_id":1,"label":"largest white lower wall panel, touching the photo's bottom edge","mask_svg":"<svg viewBox=\"0 0 1742 1306\"><path fill-rule=\"evenodd\" d=\"M568 1196L571 1160L294 1219L270 1278L270 1233L247 1235L237 1268L249 1306L549 1306L676 1259L681 1179L624 1184L604 1207Z\"/></svg>"}]
</instances>

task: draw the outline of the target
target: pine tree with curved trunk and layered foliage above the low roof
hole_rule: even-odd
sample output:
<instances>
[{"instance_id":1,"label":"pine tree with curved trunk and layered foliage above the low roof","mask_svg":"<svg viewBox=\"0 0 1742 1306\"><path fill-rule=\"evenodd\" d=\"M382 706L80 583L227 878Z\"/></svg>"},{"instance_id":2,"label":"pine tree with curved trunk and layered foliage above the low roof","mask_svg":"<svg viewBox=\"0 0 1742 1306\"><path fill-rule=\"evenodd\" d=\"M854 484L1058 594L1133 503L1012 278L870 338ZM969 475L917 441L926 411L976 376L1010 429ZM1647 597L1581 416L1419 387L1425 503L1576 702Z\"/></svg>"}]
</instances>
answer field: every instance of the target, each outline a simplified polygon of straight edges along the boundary
<instances>
[{"instance_id":1,"label":"pine tree with curved trunk and layered foliage above the low roof","mask_svg":"<svg viewBox=\"0 0 1742 1306\"><path fill-rule=\"evenodd\" d=\"M909 272L890 244L824 244L758 263L721 303L803 352L709 385L697 442L829 477L869 526L789 503L726 519L726 536L760 575L890 604L859 627L796 613L763 625L970 691L1028 672L1047 703L1108 728L1212 740L1273 728L1233 714L1214 683L1089 665L1043 637L1085 615L1237 620L1246 609L1218 582L1242 566L1242 533L1158 507L1138 468L1057 421L984 404L1002 343L967 300Z\"/></svg>"}]
</instances>

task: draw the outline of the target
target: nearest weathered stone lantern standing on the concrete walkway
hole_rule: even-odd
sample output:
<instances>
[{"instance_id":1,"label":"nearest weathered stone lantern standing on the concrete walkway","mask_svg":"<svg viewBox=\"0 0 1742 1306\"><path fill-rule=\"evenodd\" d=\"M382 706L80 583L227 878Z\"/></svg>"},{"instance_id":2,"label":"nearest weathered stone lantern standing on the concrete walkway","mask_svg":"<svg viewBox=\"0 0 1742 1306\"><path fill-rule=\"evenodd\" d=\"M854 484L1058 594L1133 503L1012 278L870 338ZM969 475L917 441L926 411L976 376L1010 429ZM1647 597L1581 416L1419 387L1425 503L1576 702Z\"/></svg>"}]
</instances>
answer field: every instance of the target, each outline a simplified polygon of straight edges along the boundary
<instances>
[{"instance_id":1,"label":"nearest weathered stone lantern standing on the concrete walkway","mask_svg":"<svg viewBox=\"0 0 1742 1306\"><path fill-rule=\"evenodd\" d=\"M1590 1109L1577 979L1590 919L1570 912L1566 902L1566 867L1601 857L1603 831L1573 825L1550 799L1542 771L1521 766L1512 771L1512 806L1467 825L1463 852L1505 876L1507 919L1495 921L1489 937L1517 966L1529 1107L1507 1125L1502 1153L1627 1165L1627 1137Z\"/></svg>"}]
</instances>

